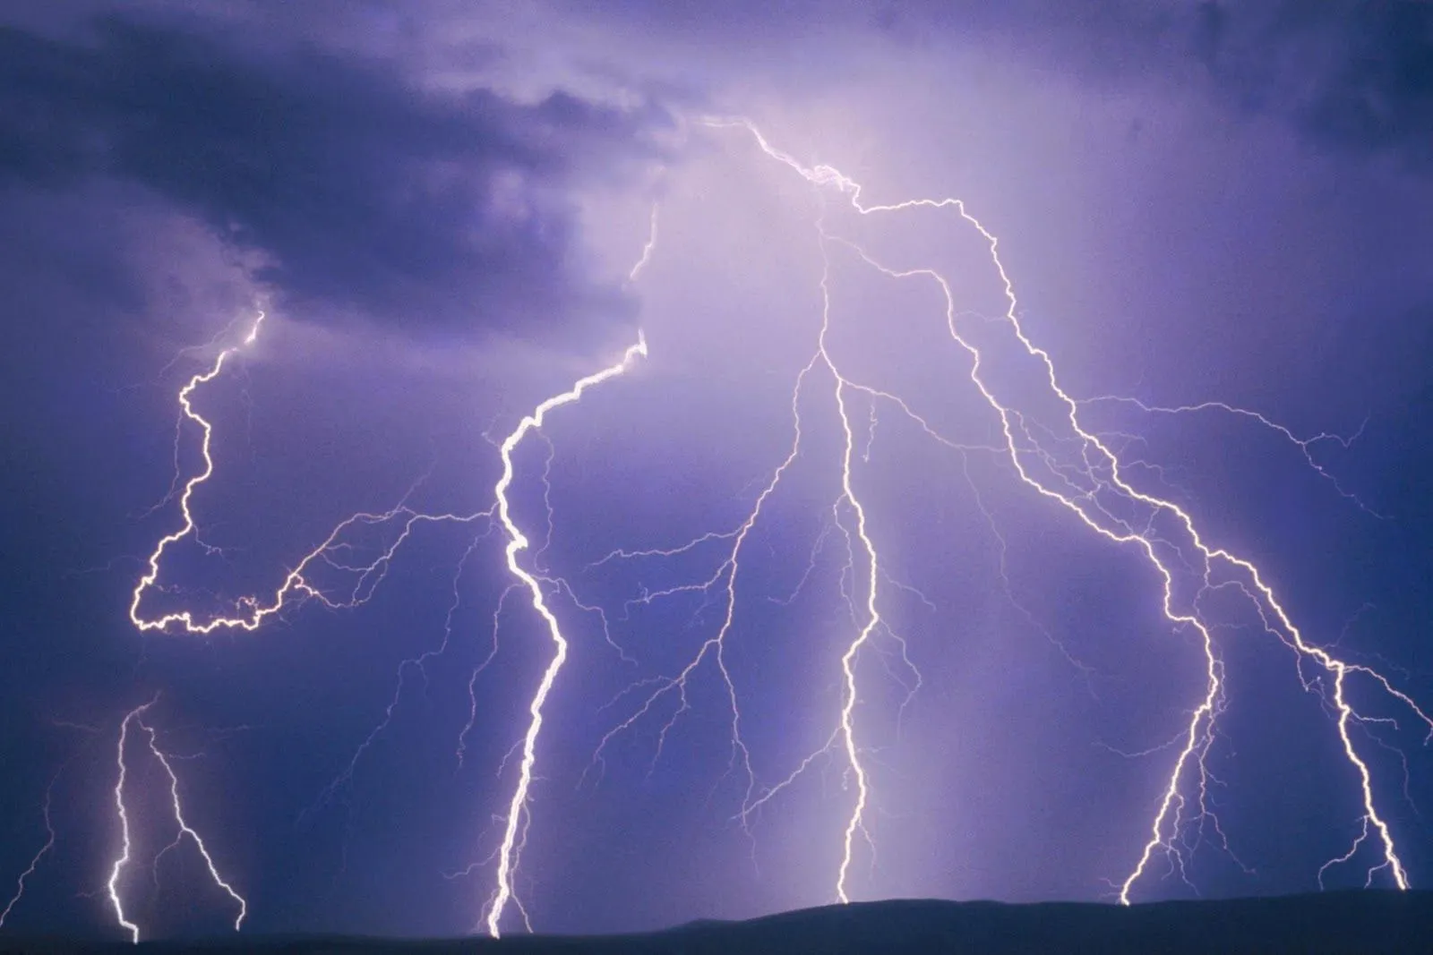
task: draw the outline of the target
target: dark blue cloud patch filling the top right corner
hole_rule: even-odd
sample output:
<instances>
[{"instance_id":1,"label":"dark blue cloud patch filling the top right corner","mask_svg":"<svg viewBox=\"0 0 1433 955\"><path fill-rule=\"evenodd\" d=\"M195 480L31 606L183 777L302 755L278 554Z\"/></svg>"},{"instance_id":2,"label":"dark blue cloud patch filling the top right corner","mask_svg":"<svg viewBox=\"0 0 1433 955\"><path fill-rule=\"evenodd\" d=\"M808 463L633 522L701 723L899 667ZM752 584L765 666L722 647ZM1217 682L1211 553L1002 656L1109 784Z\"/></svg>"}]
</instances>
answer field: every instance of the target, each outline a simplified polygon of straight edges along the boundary
<instances>
[{"instance_id":1,"label":"dark blue cloud patch filling the top right corner","mask_svg":"<svg viewBox=\"0 0 1433 955\"><path fill-rule=\"evenodd\" d=\"M939 10L939 11L937 11ZM1313 142L1389 152L1433 170L1433 4L1426 0L1307 3L1017 3L993 10L931 6L973 36L1053 53L1086 77L1189 76L1214 94L1291 120Z\"/></svg>"}]
</instances>

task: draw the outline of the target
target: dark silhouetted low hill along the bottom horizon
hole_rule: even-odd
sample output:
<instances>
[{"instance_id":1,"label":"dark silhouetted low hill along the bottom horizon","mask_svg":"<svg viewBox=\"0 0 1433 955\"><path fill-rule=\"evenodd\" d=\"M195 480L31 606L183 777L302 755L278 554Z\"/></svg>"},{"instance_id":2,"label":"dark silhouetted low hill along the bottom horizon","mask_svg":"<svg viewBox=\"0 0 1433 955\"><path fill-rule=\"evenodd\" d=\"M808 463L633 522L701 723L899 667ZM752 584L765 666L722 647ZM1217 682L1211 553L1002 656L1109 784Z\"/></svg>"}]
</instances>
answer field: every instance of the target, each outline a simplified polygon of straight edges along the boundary
<instances>
[{"instance_id":1,"label":"dark silhouetted low hill along the bottom horizon","mask_svg":"<svg viewBox=\"0 0 1433 955\"><path fill-rule=\"evenodd\" d=\"M1119 908L1080 902L861 902L745 922L600 938L242 938L119 944L0 936L0 952L479 952L490 955L840 955L857 952L1433 952L1433 892L1328 892Z\"/></svg>"}]
</instances>

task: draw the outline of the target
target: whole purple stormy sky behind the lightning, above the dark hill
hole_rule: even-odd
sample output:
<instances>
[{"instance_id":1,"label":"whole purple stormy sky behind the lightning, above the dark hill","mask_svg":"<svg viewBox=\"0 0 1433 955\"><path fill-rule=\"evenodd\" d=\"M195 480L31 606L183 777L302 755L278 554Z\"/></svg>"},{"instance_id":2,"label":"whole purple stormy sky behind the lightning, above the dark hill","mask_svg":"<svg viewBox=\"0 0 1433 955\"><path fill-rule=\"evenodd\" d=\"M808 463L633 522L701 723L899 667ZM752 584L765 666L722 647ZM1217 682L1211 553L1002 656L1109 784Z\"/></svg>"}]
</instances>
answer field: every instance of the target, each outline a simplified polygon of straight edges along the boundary
<instances>
[{"instance_id":1,"label":"whole purple stormy sky behind the lightning, above the dark hill","mask_svg":"<svg viewBox=\"0 0 1433 955\"><path fill-rule=\"evenodd\" d=\"M195 428L175 442L176 391L258 308L258 341L195 398L215 427L195 514L216 550L166 554L155 609L272 593L355 511L486 508L494 441L641 328L651 357L516 455L539 541L547 467L552 534L527 558L570 584L553 606L573 644L519 893L552 932L833 901L853 799L840 752L744 832L709 661L659 756L671 700L593 763L645 699L622 690L679 670L725 613L719 591L631 601L705 580L718 551L588 566L749 513L821 324L818 216L944 269L960 309L999 318L1005 301L959 218L857 222L705 115L749 116L871 202L964 199L1078 398L1224 401L1298 437L1357 435L1308 445L1321 474L1238 415L1082 411L1139 462L1132 480L1260 564L1311 643L1433 704L1433 6L10 3L0 898L46 842L47 790L54 845L0 931L125 936L103 893L115 743L156 693L149 719L248 898L245 931L463 934L492 892L504 757L549 653L532 610L502 600L500 534L464 558L486 527L420 528L363 607L310 603L255 633L126 619L178 527L175 468L199 465ZM934 286L830 256L848 374L956 441L996 441ZM993 374L1046 407L1017 362ZM752 531L728 639L758 786L827 743L847 594L863 598L831 524L830 382L800 407L804 452ZM876 853L858 850L853 898L1109 899L1201 694L1195 640L1161 617L1136 551L1019 484L1007 457L936 444L888 404L853 415L878 597L921 677L907 699L888 639L860 660ZM1161 855L1135 898L1317 889L1360 832L1357 780L1287 647L1232 598L1211 613L1222 836L1188 829L1188 882ZM440 647L421 672L403 663ZM1381 720L1353 729L1379 810L1429 885L1433 757L1406 709L1353 696ZM192 846L150 865L173 820L159 769L138 747L130 763L130 913L146 936L226 931ZM1373 861L1324 882L1360 886Z\"/></svg>"}]
</instances>

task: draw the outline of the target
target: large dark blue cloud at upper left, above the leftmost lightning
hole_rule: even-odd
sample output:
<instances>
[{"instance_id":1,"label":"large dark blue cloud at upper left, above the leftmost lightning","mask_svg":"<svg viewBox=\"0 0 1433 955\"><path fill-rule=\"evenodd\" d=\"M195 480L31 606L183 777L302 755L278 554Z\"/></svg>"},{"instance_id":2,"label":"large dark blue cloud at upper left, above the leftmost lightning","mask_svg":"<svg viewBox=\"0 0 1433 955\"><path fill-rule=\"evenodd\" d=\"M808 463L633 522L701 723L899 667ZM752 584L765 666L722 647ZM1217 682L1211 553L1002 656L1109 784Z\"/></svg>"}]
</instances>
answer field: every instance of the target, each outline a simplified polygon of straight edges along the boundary
<instances>
[{"instance_id":1,"label":"large dark blue cloud at upper left, above the leftmost lightning","mask_svg":"<svg viewBox=\"0 0 1433 955\"><path fill-rule=\"evenodd\" d=\"M420 89L391 62L239 54L97 20L0 29L0 182L139 183L264 253L312 314L512 326L620 309L583 275L570 189L653 153L656 107Z\"/></svg>"}]
</instances>

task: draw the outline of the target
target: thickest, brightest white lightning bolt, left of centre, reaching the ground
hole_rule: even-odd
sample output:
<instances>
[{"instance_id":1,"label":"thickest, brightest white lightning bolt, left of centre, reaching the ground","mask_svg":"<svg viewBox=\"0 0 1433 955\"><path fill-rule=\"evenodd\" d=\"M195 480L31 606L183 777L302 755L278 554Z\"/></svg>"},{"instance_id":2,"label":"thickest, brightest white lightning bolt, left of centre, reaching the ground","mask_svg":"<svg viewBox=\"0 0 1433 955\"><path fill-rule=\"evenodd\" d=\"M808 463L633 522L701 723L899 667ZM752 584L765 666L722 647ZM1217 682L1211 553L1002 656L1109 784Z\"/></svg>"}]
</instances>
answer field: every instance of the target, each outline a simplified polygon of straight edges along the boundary
<instances>
[{"instance_id":1,"label":"thickest, brightest white lightning bolt, left of centre, reaching the ground","mask_svg":"<svg viewBox=\"0 0 1433 955\"><path fill-rule=\"evenodd\" d=\"M636 269L633 269L633 272L635 271ZM600 385L609 378L616 378L618 375L626 372L638 357L646 357L646 336L641 332L638 332L636 344L629 346L622 355L622 361L610 365L609 368L603 368L593 375L577 379L570 389L543 401L530 415L524 417L517 424L513 432L503 440L503 444L499 448L499 454L503 461L503 472L502 477L497 478L493 495L497 500L497 520L502 523L503 530L507 531L507 570L513 574L513 577L520 580L532 594L533 610L536 610L547 624L547 633L552 637L555 651L552 660L547 663L546 672L542 676L542 682L537 684L537 692L533 694L532 703L527 707L527 712L532 714L532 722L527 724L527 733L523 737L523 760L517 773L517 786L513 789L513 798L507 806L503 843L497 853L497 892L489 903L486 913L487 932L493 938L499 936L499 925L503 918L503 909L506 908L509 899L513 898L512 878L513 871L517 868L517 856L520 853L517 832L520 819L527 813L527 789L532 785L533 765L537 760L537 735L542 732L543 703L546 703L547 694L552 692L552 684L557 679L557 672L562 670L562 664L567 659L567 640L562 636L557 617L547 607L547 600L543 597L542 591L542 583L517 563L517 554L529 547L529 541L513 521L512 504L507 500L507 488L513 483L513 451L529 431L542 428L543 420L549 411L560 408L562 405L573 404L582 398L582 392L588 388Z\"/></svg>"}]
</instances>

